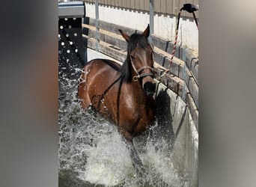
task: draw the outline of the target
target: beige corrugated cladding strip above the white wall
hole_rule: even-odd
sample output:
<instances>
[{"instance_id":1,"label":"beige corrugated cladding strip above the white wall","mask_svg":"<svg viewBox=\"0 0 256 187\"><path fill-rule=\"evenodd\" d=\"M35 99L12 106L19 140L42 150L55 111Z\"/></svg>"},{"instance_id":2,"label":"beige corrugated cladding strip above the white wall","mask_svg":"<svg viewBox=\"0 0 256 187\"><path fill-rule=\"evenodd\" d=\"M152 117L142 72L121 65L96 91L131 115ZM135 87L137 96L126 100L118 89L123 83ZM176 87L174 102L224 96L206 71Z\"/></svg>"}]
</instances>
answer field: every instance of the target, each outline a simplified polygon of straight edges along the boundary
<instances>
[{"instance_id":1,"label":"beige corrugated cladding strip above the white wall","mask_svg":"<svg viewBox=\"0 0 256 187\"><path fill-rule=\"evenodd\" d=\"M123 7L132 10L149 11L150 0L99 0L99 4L109 5L113 7ZM177 15L183 4L198 4L199 0L154 0L154 12L170 15ZM85 2L94 3L95 0L85 0ZM182 16L193 17L192 13L183 12ZM198 11L195 12L198 17Z\"/></svg>"}]
</instances>

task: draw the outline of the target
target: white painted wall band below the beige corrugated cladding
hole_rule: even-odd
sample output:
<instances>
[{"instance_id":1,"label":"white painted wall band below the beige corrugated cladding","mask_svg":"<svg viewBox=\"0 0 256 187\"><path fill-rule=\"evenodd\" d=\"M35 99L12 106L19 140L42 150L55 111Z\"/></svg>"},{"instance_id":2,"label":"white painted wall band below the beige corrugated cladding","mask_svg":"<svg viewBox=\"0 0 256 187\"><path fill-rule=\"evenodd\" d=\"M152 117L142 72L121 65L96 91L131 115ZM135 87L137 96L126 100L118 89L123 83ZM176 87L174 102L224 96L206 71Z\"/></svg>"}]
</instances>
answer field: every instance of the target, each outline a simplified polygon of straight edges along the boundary
<instances>
[{"instance_id":1,"label":"white painted wall band below the beige corrugated cladding","mask_svg":"<svg viewBox=\"0 0 256 187\"><path fill-rule=\"evenodd\" d=\"M85 4L86 16L95 19L94 4ZM181 13L182 15L182 13ZM99 19L105 22L112 22L116 25L134 28L144 31L150 22L148 13L124 10L114 7L99 6ZM192 19L191 19L192 20ZM198 28L195 21L180 18L180 28L178 43L190 49L198 50ZM176 17L163 16L156 14L154 16L154 34L163 37L165 40L174 40L176 28Z\"/></svg>"}]
</instances>

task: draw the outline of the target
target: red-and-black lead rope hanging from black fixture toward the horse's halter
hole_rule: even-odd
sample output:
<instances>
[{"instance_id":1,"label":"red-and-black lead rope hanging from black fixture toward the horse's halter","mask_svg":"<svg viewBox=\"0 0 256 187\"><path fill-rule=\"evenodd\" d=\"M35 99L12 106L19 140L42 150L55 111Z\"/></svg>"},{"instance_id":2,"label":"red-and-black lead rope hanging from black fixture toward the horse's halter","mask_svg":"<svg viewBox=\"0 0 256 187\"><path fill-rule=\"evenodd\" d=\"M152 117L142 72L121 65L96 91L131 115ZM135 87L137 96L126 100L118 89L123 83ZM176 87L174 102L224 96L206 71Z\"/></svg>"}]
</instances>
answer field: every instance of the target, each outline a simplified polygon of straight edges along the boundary
<instances>
[{"instance_id":1,"label":"red-and-black lead rope hanging from black fixture toward the horse's halter","mask_svg":"<svg viewBox=\"0 0 256 187\"><path fill-rule=\"evenodd\" d=\"M177 45L177 35L178 35L178 32L179 32L179 25L180 25L180 13L182 10L186 10L188 11L189 13L193 13L193 16L194 16L194 19L195 19L195 24L198 28L198 20L196 19L195 17L195 11L198 10L198 6L195 6L193 4L183 4L183 7L180 8L180 12L178 13L178 18L177 18L177 27L176 27L176 31L175 31L175 40L174 40L174 46L173 46L173 49L172 49L172 52L171 52L171 60L170 60L170 63L169 63L169 66L168 66L168 69L165 70L164 73L162 73L161 76L159 76L157 79L160 80L163 76L165 76L171 69L171 64L172 64L172 61L174 59L174 53L176 51L176 45Z\"/></svg>"}]
</instances>

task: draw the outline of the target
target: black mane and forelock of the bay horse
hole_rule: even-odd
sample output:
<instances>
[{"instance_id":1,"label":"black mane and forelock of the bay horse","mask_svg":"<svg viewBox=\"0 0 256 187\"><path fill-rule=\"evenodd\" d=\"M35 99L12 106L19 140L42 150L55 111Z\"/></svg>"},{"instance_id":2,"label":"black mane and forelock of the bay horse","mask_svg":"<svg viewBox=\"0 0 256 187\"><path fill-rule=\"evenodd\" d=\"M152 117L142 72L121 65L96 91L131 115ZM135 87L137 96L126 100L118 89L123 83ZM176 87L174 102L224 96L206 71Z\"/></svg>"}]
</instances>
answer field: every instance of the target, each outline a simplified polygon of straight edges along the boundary
<instances>
[{"instance_id":1,"label":"black mane and forelock of the bay horse","mask_svg":"<svg viewBox=\"0 0 256 187\"><path fill-rule=\"evenodd\" d=\"M130 54L132 50L135 49L137 46L137 43L139 46L141 46L143 49L147 48L148 42L147 38L144 37L142 34L132 34L129 37L129 43L127 47L127 58L124 61L124 64L122 65L120 72L121 72L121 78L124 80L124 82L131 82L132 81L132 73L131 73L131 66L130 66Z\"/></svg>"}]
</instances>

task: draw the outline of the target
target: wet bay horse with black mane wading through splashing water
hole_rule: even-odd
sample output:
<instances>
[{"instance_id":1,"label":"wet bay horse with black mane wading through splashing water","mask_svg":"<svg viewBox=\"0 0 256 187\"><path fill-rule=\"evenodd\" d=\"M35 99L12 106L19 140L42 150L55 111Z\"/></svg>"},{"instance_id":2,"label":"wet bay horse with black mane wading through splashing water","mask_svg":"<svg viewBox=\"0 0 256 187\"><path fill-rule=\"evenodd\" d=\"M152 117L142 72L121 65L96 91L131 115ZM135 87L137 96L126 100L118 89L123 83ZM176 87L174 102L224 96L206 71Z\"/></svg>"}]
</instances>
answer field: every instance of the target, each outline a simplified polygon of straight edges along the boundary
<instances>
[{"instance_id":1,"label":"wet bay horse with black mane wading through splashing water","mask_svg":"<svg viewBox=\"0 0 256 187\"><path fill-rule=\"evenodd\" d=\"M106 59L89 61L79 79L78 96L83 108L92 106L118 126L127 140L133 165L144 173L132 138L155 120L153 49L147 41L150 28L147 25L142 34L131 36L119 31L128 43L124 64Z\"/></svg>"}]
</instances>

